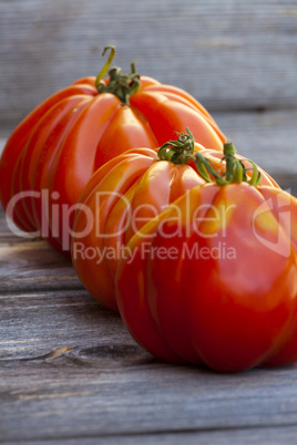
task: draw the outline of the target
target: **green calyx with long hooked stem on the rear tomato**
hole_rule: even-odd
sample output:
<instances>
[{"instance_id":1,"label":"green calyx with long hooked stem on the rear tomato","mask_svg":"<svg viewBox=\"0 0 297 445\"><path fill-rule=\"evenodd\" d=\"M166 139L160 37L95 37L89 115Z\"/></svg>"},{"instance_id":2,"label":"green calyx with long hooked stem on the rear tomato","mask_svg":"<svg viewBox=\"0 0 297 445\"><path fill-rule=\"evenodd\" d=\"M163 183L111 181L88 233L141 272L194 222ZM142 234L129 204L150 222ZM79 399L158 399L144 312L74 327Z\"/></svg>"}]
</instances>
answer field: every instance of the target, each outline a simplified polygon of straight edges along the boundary
<instances>
[{"instance_id":1,"label":"green calyx with long hooked stem on the rear tomato","mask_svg":"<svg viewBox=\"0 0 297 445\"><path fill-rule=\"evenodd\" d=\"M95 80L96 90L99 94L114 94L116 97L120 99L122 104L129 105L129 97L141 89L140 74L136 73L135 61L131 63L131 73L122 74L122 69L119 66L113 66L110 69L110 65L115 55L115 48L113 45L106 45L102 53L103 56L105 55L107 50L110 50L109 59ZM104 84L101 81L107 72L110 81L107 84Z\"/></svg>"}]
</instances>

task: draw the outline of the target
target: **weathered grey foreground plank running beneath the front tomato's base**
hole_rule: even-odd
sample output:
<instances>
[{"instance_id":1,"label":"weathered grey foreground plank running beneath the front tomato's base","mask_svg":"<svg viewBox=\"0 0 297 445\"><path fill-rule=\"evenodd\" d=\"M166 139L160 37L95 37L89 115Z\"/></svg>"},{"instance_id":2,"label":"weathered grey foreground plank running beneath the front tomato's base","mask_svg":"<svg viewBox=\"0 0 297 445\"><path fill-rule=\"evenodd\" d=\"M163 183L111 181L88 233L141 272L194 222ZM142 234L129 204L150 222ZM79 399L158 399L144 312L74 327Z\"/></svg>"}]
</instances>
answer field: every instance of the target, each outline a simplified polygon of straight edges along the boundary
<instances>
[{"instance_id":1,"label":"weathered grey foreground plank running beneath the front tomato's base","mask_svg":"<svg viewBox=\"0 0 297 445\"><path fill-rule=\"evenodd\" d=\"M296 425L296 368L219 375L103 348L100 333L96 341L90 348L82 338L48 359L0 361L3 439Z\"/></svg>"}]
</instances>

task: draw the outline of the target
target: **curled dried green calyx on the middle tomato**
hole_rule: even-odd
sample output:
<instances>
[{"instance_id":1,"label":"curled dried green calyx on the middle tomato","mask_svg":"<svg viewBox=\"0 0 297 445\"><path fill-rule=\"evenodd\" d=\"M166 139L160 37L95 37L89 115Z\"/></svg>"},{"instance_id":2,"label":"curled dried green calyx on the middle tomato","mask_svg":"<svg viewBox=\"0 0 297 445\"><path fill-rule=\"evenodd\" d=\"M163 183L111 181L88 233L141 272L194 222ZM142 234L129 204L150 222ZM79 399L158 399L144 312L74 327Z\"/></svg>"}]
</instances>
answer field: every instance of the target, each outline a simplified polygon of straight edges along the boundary
<instances>
[{"instance_id":1,"label":"curled dried green calyx on the middle tomato","mask_svg":"<svg viewBox=\"0 0 297 445\"><path fill-rule=\"evenodd\" d=\"M168 141L163 144L157 152L160 161L170 161L173 164L186 164L193 157L195 139L188 128L187 134L178 133L176 141Z\"/></svg>"}]
</instances>

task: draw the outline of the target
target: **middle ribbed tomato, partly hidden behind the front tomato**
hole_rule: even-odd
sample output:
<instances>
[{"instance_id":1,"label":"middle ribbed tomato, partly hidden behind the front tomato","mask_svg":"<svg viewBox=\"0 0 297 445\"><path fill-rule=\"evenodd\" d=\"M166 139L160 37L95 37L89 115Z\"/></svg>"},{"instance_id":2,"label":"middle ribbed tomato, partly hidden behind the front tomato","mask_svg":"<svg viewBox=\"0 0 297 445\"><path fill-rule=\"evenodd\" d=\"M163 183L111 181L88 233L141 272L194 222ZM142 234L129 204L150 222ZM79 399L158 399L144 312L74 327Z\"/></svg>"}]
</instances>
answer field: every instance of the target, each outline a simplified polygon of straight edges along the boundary
<instances>
[{"instance_id":1,"label":"middle ribbed tomato, partly hidden behind the front tomato","mask_svg":"<svg viewBox=\"0 0 297 445\"><path fill-rule=\"evenodd\" d=\"M84 287L107 308L117 311L114 277L126 242L171 203L205 183L193 152L223 168L223 153L195 144L188 131L165 143L158 155L139 148L111 159L83 189L73 224L72 262ZM264 172L263 183L277 186Z\"/></svg>"}]
</instances>

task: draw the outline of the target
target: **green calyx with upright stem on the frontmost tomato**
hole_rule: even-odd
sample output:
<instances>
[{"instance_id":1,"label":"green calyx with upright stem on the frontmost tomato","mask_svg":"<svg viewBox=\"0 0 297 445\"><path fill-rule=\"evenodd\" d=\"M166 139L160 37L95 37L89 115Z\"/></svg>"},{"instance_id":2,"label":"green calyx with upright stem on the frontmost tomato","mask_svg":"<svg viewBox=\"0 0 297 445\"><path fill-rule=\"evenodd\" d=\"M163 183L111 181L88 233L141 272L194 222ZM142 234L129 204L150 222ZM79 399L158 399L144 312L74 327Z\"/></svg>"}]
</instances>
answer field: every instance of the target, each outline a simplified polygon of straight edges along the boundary
<instances>
[{"instance_id":1,"label":"green calyx with upright stem on the frontmost tomato","mask_svg":"<svg viewBox=\"0 0 297 445\"><path fill-rule=\"evenodd\" d=\"M243 161L235 156L236 151L232 141L225 142L223 153L224 157L222 158L222 162L226 162L226 168L223 173L215 170L212 161L207 159L199 152L196 152L195 156L192 156L198 173L206 183L213 183L218 186L225 186L234 183L247 183L254 187L260 183L262 176L256 164L250 159L246 159L252 165L252 168L246 168ZM253 169L253 175L249 179L246 174L248 169Z\"/></svg>"}]
</instances>

